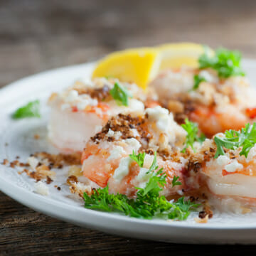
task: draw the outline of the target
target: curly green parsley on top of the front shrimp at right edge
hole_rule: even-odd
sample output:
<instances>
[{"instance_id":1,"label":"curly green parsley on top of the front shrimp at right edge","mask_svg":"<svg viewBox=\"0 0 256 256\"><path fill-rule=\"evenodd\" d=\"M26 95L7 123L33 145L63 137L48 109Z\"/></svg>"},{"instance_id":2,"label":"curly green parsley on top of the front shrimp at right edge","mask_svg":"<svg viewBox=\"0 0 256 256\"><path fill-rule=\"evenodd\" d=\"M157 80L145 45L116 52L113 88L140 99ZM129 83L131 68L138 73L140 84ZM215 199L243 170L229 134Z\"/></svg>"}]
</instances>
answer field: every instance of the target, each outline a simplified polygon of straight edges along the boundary
<instances>
[{"instance_id":1,"label":"curly green parsley on top of the front shrimp at right edge","mask_svg":"<svg viewBox=\"0 0 256 256\"><path fill-rule=\"evenodd\" d=\"M225 154L223 148L238 149L240 146L242 147L240 156L247 157L250 149L256 143L256 123L246 124L245 128L242 128L240 131L227 130L225 131L224 137L216 135L214 142L217 146L215 158Z\"/></svg>"}]
</instances>

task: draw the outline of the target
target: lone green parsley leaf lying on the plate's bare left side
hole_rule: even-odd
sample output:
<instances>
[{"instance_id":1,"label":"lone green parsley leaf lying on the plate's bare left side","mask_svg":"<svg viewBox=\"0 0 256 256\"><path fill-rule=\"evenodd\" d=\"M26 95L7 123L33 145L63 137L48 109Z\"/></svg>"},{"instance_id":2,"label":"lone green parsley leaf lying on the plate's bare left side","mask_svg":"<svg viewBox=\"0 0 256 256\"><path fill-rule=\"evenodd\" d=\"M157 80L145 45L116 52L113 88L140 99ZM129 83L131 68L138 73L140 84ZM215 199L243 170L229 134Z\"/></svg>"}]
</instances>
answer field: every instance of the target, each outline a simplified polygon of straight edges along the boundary
<instances>
[{"instance_id":1,"label":"lone green parsley leaf lying on the plate's bare left side","mask_svg":"<svg viewBox=\"0 0 256 256\"><path fill-rule=\"evenodd\" d=\"M27 105L18 108L11 117L13 119L21 119L26 117L41 117L39 112L39 100L28 102Z\"/></svg>"}]
</instances>

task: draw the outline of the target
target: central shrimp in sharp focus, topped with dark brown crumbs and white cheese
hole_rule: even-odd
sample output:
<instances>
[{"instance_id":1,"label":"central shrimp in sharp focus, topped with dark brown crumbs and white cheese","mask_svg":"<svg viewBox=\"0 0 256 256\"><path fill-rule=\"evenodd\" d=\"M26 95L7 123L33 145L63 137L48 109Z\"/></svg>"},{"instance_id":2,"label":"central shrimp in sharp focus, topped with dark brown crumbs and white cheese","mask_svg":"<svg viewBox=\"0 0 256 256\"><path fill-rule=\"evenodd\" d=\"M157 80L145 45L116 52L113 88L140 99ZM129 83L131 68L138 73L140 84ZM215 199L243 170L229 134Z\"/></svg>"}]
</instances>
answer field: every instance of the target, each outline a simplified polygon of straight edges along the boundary
<instances>
[{"instance_id":1,"label":"central shrimp in sharp focus, topped with dark brown crumbs and white cheese","mask_svg":"<svg viewBox=\"0 0 256 256\"><path fill-rule=\"evenodd\" d=\"M167 124L165 132L159 129L163 124ZM162 193L174 195L186 186L186 159L177 157L185 139L183 128L159 106L147 109L139 117L119 114L87 142L81 158L83 175L100 187L108 185L110 193L132 197L136 195L136 187L144 188L149 181L148 172L156 151L159 169L163 168L166 174L167 183ZM138 152L145 153L143 166L129 156ZM173 188L174 176L178 176L183 185Z\"/></svg>"}]
</instances>

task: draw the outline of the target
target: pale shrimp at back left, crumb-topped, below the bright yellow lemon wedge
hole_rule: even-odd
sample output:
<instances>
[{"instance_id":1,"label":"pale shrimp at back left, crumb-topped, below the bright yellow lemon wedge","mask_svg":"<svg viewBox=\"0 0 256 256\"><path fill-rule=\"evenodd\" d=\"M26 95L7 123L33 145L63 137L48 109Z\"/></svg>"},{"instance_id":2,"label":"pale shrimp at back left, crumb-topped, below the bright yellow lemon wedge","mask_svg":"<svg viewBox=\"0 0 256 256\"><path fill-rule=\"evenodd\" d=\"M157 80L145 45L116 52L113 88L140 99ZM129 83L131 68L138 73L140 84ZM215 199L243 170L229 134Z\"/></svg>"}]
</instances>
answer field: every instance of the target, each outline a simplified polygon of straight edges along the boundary
<instances>
[{"instance_id":1,"label":"pale shrimp at back left, crumb-topped, below the bright yellow lemon wedge","mask_svg":"<svg viewBox=\"0 0 256 256\"><path fill-rule=\"evenodd\" d=\"M128 106L120 106L110 95L116 79L97 78L50 96L48 138L60 151L82 151L85 143L110 117L119 113L142 114L146 94L135 84L122 83L133 95ZM121 83L119 83L121 85Z\"/></svg>"}]
</instances>

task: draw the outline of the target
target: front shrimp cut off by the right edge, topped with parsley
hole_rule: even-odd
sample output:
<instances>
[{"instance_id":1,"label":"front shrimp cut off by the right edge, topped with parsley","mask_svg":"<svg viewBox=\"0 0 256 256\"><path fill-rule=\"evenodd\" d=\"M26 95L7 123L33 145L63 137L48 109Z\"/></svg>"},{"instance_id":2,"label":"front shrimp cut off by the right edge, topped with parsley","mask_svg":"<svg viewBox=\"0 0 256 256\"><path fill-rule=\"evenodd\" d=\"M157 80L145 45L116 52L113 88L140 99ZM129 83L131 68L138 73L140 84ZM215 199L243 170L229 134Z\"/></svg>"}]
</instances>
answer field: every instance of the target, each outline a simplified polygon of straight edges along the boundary
<instances>
[{"instance_id":1,"label":"front shrimp cut off by the right edge, topped with parsley","mask_svg":"<svg viewBox=\"0 0 256 256\"><path fill-rule=\"evenodd\" d=\"M235 212L256 206L256 146L250 149L247 158L240 156L241 150L226 149L225 155L215 159L216 145L212 139L207 139L191 160L191 163L201 166L196 172L197 181L194 179L192 182L198 182L201 189L206 187L215 205L222 204L223 207L230 203ZM192 168L192 176L194 173Z\"/></svg>"}]
</instances>

